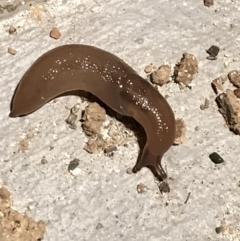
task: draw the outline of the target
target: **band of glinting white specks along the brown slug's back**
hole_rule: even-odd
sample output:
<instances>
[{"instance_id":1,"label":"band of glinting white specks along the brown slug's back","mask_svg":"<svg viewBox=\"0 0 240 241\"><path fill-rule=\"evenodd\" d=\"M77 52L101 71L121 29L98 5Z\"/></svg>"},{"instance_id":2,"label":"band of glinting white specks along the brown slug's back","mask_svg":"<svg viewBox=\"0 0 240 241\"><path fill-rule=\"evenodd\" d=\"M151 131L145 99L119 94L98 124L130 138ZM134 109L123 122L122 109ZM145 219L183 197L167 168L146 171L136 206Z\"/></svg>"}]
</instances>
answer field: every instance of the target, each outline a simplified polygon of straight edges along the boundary
<instances>
[{"instance_id":1,"label":"band of glinting white specks along the brown slug's back","mask_svg":"<svg viewBox=\"0 0 240 241\"><path fill-rule=\"evenodd\" d=\"M130 79L127 79L127 74L123 69L120 67L117 67L115 65L111 65L109 61L106 61L105 65L101 65L99 63L91 62L91 57L88 55L84 59L82 58L74 58L73 53L69 53L70 58L69 59L58 59L56 60L56 64L58 65L56 68L49 68L46 75L43 75L42 77L45 80L51 80L54 79L54 75L57 76L57 74L63 74L65 75L68 73L68 71L71 71L71 67L76 67L79 69L82 69L84 72L92 72L92 73L99 73L101 78L106 82L111 82L114 84L117 84L117 86L120 89L126 89L126 92L136 93L135 86L133 86L133 82ZM69 66L71 65L71 66ZM74 75L73 72L71 75ZM115 75L115 76L114 76ZM118 76L118 78L117 78ZM116 79L117 78L117 79ZM157 133L160 132L168 132L168 126L166 123L162 123L161 114L159 113L158 109L154 107L155 105L149 100L149 98L146 97L146 90L145 89L139 89L138 94L132 95L132 100L135 102L135 104L138 106L141 106L141 108L147 110L152 114L157 122Z\"/></svg>"}]
</instances>

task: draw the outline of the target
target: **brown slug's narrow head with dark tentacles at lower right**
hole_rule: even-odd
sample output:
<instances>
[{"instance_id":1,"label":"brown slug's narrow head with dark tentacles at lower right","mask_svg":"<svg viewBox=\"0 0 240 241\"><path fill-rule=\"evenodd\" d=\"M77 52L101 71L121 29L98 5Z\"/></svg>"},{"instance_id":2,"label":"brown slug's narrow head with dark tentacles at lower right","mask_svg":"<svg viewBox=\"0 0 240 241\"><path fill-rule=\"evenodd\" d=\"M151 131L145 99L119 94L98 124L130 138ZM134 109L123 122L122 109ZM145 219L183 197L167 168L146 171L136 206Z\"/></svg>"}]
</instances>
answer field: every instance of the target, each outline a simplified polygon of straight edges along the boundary
<instances>
[{"instance_id":1,"label":"brown slug's narrow head with dark tentacles at lower right","mask_svg":"<svg viewBox=\"0 0 240 241\"><path fill-rule=\"evenodd\" d=\"M148 147L145 146L140 160L133 168L133 172L136 173L143 167L147 167L159 181L163 181L167 178L167 174L161 165L161 160L162 156L154 155L149 151Z\"/></svg>"}]
</instances>

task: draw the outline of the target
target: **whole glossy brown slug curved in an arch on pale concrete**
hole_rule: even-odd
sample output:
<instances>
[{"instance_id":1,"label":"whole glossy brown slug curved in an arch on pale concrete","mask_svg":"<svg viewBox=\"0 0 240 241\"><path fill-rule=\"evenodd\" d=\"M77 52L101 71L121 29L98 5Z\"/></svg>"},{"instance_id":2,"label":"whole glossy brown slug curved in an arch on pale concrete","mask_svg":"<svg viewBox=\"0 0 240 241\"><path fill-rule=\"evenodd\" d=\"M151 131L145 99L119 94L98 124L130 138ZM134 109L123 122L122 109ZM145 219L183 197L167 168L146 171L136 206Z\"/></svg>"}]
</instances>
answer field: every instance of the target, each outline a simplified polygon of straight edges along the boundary
<instances>
[{"instance_id":1,"label":"whole glossy brown slug curved in an arch on pale concrete","mask_svg":"<svg viewBox=\"0 0 240 241\"><path fill-rule=\"evenodd\" d=\"M162 181L164 153L175 137L175 118L165 98L117 56L87 45L54 48L27 70L11 104L10 117L36 111L48 101L73 90L88 91L116 112L133 117L147 141L134 172L149 167Z\"/></svg>"}]
</instances>

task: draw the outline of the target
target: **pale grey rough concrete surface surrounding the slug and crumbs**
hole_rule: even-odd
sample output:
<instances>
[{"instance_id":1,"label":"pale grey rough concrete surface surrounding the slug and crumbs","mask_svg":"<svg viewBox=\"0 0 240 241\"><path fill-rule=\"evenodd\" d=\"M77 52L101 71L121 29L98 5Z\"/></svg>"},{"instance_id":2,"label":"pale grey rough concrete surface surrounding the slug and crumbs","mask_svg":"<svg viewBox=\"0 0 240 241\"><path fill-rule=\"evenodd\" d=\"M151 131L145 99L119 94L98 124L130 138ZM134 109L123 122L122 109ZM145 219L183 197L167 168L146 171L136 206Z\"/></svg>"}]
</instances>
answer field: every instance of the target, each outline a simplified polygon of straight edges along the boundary
<instances>
[{"instance_id":1,"label":"pale grey rough concrete surface surrounding the slug and crumbs","mask_svg":"<svg viewBox=\"0 0 240 241\"><path fill-rule=\"evenodd\" d=\"M0 181L18 211L30 207L32 218L46 222L44 241L240 240L240 137L226 127L210 85L239 68L240 3L219 0L207 8L200 0L125 2L54 0L0 15ZM8 25L17 28L16 35L6 32ZM60 40L49 37L54 26ZM174 66L183 52L197 58L192 89L170 83L160 90L187 126L185 143L172 147L163 160L173 179L170 193L159 193L147 169L126 173L136 162L137 144L120 147L112 158L83 150L81 128L71 130L64 121L65 106L76 104L77 97L61 98L24 118L8 117L14 88L31 63L66 43L101 47L144 77L147 64ZM215 61L206 59L211 45L220 47ZM10 55L8 47L17 54ZM210 107L201 110L205 98ZM224 164L210 161L213 151ZM74 158L82 160L75 178L67 172ZM139 183L149 188L146 193L137 193ZM223 220L232 230L217 234Z\"/></svg>"}]
</instances>

